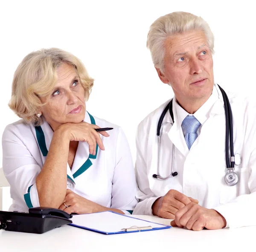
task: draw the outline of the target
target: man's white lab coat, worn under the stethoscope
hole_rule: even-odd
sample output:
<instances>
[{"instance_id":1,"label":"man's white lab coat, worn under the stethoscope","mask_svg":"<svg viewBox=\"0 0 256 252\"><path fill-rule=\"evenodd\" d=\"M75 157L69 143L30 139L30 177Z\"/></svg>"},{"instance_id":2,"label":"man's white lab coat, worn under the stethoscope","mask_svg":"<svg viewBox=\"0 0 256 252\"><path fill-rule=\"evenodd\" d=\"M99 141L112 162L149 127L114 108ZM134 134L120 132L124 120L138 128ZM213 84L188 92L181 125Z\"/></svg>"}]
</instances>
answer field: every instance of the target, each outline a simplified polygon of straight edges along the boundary
<instances>
[{"instance_id":1,"label":"man's white lab coat, worn under the stethoscope","mask_svg":"<svg viewBox=\"0 0 256 252\"><path fill-rule=\"evenodd\" d=\"M151 215L154 201L170 189L175 189L199 200L201 206L221 213L230 228L256 225L256 106L246 98L241 99L226 92L233 112L234 154L242 156L241 164L235 165L239 182L228 186L224 182L227 173L224 102L219 88L215 88L218 91L218 99L190 151L180 125L174 123L173 126L166 126L164 130L160 175L166 177L171 173L174 144L173 171L177 171L176 177L168 180L152 177L157 173L157 122L169 101L150 113L138 126L135 172L140 189L137 191L137 198L140 202L133 214ZM175 106L173 114L174 121L177 121ZM164 122L172 122L169 113L166 113Z\"/></svg>"}]
</instances>

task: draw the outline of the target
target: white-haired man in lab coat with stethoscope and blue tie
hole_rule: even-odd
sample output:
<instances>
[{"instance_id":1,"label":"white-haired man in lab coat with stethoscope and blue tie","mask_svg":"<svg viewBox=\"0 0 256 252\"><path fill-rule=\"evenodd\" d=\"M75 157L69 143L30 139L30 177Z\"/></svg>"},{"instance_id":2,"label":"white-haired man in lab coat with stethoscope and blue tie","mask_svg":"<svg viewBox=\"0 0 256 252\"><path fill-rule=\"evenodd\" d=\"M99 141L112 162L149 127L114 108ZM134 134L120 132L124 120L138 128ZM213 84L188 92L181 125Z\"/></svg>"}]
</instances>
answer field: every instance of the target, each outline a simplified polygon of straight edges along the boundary
<instances>
[{"instance_id":1,"label":"white-haired man in lab coat with stethoscope and blue tie","mask_svg":"<svg viewBox=\"0 0 256 252\"><path fill-rule=\"evenodd\" d=\"M208 24L167 14L151 25L147 46L175 96L138 126L134 214L192 230L256 225L255 105L214 84Z\"/></svg>"}]
</instances>

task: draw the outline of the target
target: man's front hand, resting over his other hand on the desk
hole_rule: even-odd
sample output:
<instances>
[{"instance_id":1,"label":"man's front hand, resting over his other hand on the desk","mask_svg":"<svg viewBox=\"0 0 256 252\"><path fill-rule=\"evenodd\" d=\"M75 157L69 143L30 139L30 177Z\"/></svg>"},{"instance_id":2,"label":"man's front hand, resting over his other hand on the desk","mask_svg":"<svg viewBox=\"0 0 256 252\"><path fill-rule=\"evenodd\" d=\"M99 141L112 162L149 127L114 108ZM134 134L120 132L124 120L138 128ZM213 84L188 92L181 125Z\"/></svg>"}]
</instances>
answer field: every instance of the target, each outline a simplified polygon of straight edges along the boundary
<instances>
[{"instance_id":1,"label":"man's front hand, resting over his other hand on the desk","mask_svg":"<svg viewBox=\"0 0 256 252\"><path fill-rule=\"evenodd\" d=\"M207 229L222 229L227 225L225 218L213 209L207 209L191 202L176 211L172 226L186 227L195 231Z\"/></svg>"}]
</instances>

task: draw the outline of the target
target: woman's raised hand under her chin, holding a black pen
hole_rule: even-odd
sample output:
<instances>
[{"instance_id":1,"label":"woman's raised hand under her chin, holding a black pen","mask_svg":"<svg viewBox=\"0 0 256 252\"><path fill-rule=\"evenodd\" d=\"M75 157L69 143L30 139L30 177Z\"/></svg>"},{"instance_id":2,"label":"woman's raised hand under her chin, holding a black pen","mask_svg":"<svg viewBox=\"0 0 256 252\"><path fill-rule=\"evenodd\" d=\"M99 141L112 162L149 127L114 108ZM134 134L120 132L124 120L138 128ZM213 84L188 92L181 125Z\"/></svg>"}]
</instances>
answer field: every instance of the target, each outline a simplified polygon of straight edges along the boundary
<instances>
[{"instance_id":1,"label":"woman's raised hand under her chin, holding a black pen","mask_svg":"<svg viewBox=\"0 0 256 252\"><path fill-rule=\"evenodd\" d=\"M100 131L99 133L95 130L100 128L97 125L92 125L87 122L79 123L65 123L58 127L54 133L61 134L61 136L66 136L69 141L82 141L87 142L89 145L89 153L96 154L96 145L99 145L101 150L105 150L102 143L102 139L99 134L102 136L108 137L109 134L106 131Z\"/></svg>"}]
</instances>

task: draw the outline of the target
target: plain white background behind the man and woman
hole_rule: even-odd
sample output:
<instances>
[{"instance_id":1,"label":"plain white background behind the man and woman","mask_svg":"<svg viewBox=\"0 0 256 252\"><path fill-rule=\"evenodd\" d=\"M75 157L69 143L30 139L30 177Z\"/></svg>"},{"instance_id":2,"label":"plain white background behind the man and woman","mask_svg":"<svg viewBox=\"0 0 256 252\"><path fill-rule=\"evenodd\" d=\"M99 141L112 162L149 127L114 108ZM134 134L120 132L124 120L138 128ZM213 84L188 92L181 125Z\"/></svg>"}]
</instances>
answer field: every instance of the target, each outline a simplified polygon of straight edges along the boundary
<instances>
[{"instance_id":1,"label":"plain white background behind the man and woman","mask_svg":"<svg viewBox=\"0 0 256 252\"><path fill-rule=\"evenodd\" d=\"M17 65L29 52L59 47L80 58L95 79L87 110L124 129L135 162L137 125L173 96L151 62L146 48L148 28L174 11L192 12L209 23L215 35L215 83L253 95L253 0L0 1L0 135L18 119L8 107Z\"/></svg>"}]
</instances>

